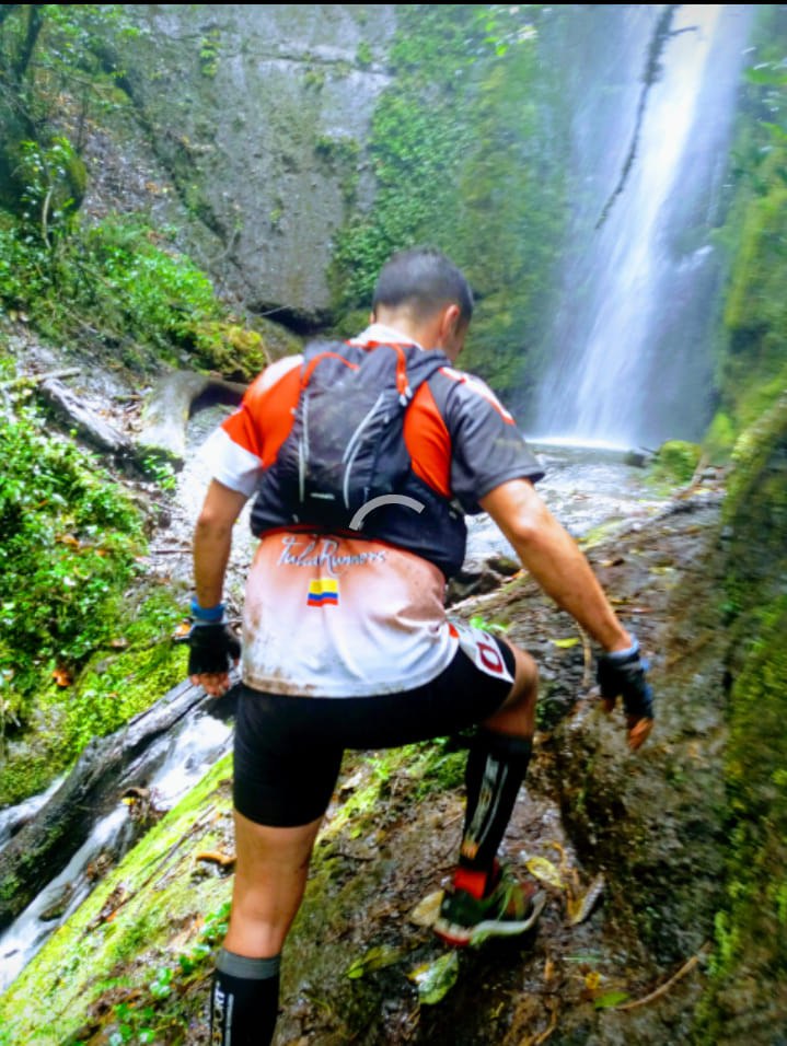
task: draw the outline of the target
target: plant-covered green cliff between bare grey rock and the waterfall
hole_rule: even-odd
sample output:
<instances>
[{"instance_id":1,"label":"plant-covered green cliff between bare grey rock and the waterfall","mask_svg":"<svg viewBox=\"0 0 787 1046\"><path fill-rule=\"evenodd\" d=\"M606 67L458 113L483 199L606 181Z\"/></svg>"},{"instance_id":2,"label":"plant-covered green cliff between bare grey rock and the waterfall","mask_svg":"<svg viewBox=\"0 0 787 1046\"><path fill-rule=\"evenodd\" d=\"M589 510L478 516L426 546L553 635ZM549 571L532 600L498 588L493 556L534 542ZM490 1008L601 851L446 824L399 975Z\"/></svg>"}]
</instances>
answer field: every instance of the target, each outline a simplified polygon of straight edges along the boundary
<instances>
[{"instance_id":1,"label":"plant-covered green cliff between bare grey rock and the waterfall","mask_svg":"<svg viewBox=\"0 0 787 1046\"><path fill-rule=\"evenodd\" d=\"M339 231L332 267L337 306L351 312L369 307L395 251L444 251L479 300L462 365L501 392L537 370L566 213L559 149L540 148L553 88L535 60L537 13L400 7L395 80L366 150L374 207Z\"/></svg>"}]
</instances>

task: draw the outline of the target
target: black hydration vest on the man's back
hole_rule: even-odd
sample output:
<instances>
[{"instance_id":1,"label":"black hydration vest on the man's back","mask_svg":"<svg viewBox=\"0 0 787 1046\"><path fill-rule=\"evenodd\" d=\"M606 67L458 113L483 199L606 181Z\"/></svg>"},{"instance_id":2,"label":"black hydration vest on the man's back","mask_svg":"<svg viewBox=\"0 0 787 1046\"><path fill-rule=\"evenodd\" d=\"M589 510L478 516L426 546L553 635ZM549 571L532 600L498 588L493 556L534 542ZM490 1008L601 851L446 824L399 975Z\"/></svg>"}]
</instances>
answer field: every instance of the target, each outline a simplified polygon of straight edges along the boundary
<instances>
[{"instance_id":1,"label":"black hydration vest on the man's back","mask_svg":"<svg viewBox=\"0 0 787 1046\"><path fill-rule=\"evenodd\" d=\"M312 342L292 428L259 483L252 531L298 526L389 542L450 577L462 566L462 510L419 479L404 441L415 393L448 358L415 345Z\"/></svg>"}]
</instances>

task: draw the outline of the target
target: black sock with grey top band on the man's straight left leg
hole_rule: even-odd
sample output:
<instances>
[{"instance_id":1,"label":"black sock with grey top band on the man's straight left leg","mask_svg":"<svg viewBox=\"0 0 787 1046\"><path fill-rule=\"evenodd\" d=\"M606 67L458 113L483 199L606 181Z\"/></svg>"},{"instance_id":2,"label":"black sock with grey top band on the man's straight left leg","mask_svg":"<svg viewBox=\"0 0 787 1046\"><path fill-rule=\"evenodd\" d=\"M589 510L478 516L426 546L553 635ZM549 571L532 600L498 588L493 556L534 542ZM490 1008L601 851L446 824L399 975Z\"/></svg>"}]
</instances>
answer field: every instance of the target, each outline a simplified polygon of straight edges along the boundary
<instances>
[{"instance_id":1,"label":"black sock with grey top band on the man's straight left leg","mask_svg":"<svg viewBox=\"0 0 787 1046\"><path fill-rule=\"evenodd\" d=\"M212 1046L268 1046L279 1009L279 962L221 949L210 995Z\"/></svg>"}]
</instances>

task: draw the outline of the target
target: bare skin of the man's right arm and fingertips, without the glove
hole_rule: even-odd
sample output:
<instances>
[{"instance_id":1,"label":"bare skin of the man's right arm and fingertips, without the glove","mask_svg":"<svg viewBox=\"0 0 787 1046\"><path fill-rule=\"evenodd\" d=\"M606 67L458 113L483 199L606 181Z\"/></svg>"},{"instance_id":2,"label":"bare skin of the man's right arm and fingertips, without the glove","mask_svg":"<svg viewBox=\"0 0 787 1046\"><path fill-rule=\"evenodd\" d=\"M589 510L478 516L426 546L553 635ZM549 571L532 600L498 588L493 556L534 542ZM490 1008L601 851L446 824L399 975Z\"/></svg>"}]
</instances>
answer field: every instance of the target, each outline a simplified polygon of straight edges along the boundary
<instances>
[{"instance_id":1,"label":"bare skin of the man's right arm and fingertips, without the glove","mask_svg":"<svg viewBox=\"0 0 787 1046\"><path fill-rule=\"evenodd\" d=\"M500 484L479 501L547 595L592 636L606 653L632 650L634 638L610 605L588 560L524 479ZM628 744L637 748L652 719L629 716Z\"/></svg>"}]
</instances>

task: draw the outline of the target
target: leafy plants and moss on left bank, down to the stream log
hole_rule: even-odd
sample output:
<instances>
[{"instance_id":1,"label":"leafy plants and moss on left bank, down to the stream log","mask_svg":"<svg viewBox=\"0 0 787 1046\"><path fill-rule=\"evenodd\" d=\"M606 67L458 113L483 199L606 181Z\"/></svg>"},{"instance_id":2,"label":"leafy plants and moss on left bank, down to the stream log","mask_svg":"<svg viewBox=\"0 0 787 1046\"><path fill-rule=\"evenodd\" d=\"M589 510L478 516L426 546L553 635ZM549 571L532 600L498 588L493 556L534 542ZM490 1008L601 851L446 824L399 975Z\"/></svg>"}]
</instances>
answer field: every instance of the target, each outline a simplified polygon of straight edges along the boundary
<instances>
[{"instance_id":1,"label":"leafy plants and moss on left bank, down to the stream log","mask_svg":"<svg viewBox=\"0 0 787 1046\"><path fill-rule=\"evenodd\" d=\"M141 583L141 514L92 455L50 435L22 398L0 427L0 744L34 714L53 731L3 759L0 802L10 802L174 686L185 655L170 642L175 595Z\"/></svg>"}]
</instances>

